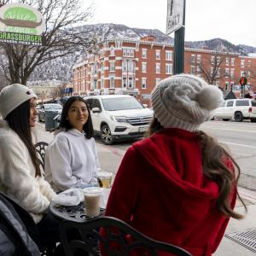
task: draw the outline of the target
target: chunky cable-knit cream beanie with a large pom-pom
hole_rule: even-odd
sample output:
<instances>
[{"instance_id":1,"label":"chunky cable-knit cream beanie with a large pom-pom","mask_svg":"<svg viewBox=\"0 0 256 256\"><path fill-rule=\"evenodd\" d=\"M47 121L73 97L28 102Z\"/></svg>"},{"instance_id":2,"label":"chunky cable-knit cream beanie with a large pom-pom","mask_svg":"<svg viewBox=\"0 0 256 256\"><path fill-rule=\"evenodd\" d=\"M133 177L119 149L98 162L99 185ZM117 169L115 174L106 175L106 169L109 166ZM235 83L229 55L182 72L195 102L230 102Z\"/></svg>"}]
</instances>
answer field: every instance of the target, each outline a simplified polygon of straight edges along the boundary
<instances>
[{"instance_id":1,"label":"chunky cable-knit cream beanie with a large pom-pom","mask_svg":"<svg viewBox=\"0 0 256 256\"><path fill-rule=\"evenodd\" d=\"M223 92L203 79L178 74L164 79L151 93L154 115L164 127L195 131L224 102Z\"/></svg>"}]
</instances>

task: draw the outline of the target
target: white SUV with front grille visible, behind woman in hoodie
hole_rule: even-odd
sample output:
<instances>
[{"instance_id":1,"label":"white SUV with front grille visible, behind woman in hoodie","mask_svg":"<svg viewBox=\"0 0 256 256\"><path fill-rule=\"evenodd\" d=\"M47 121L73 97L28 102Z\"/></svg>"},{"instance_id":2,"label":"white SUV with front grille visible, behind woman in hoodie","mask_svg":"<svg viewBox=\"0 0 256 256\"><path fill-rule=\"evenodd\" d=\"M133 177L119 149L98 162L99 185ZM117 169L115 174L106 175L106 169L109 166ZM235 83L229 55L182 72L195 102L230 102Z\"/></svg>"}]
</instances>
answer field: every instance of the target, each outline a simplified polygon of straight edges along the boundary
<instances>
[{"instance_id":1,"label":"white SUV with front grille visible, behind woman in hoodie","mask_svg":"<svg viewBox=\"0 0 256 256\"><path fill-rule=\"evenodd\" d=\"M143 137L153 117L153 111L133 96L88 96L84 99L91 111L94 131L108 145L117 140Z\"/></svg>"}]
</instances>

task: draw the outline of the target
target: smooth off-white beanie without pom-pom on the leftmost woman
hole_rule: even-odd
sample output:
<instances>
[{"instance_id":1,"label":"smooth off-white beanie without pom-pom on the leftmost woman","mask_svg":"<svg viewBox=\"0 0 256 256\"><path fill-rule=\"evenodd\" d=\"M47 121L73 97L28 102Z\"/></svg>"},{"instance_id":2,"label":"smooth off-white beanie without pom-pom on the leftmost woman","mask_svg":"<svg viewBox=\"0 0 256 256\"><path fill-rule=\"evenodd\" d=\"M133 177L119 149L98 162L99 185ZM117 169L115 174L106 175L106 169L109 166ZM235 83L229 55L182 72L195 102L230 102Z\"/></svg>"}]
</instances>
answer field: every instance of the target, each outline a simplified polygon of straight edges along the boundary
<instances>
[{"instance_id":1,"label":"smooth off-white beanie without pom-pom on the leftmost woman","mask_svg":"<svg viewBox=\"0 0 256 256\"><path fill-rule=\"evenodd\" d=\"M10 84L0 92L0 114L5 119L9 113L31 98L37 98L32 90L22 84Z\"/></svg>"}]
</instances>

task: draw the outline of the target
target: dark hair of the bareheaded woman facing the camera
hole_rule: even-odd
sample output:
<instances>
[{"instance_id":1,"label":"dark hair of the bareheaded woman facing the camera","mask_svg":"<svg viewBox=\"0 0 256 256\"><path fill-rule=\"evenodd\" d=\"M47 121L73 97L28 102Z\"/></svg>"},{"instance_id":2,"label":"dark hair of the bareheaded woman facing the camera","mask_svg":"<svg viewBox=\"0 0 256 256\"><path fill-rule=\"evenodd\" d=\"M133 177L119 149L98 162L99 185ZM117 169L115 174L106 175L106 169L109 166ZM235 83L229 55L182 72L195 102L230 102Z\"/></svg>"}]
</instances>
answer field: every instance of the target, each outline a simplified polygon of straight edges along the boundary
<instances>
[{"instance_id":1,"label":"dark hair of the bareheaded woman facing the camera","mask_svg":"<svg viewBox=\"0 0 256 256\"><path fill-rule=\"evenodd\" d=\"M91 116L90 116L90 108L88 107L88 105L86 104L86 102L84 101L84 99L81 96L71 96L67 102L64 104L63 109L62 109L62 113L61 113L61 122L60 122L60 128L64 128L66 130L70 130L73 129L73 126L69 123L69 120L67 119L67 112L69 110L69 108L71 107L71 105L73 104L73 102L84 102L87 110L88 110L88 119L87 122L84 124L83 126L83 131L85 133L85 137L90 139L91 137L94 137L94 131L93 131L93 125L92 125L92 120L91 120Z\"/></svg>"}]
</instances>

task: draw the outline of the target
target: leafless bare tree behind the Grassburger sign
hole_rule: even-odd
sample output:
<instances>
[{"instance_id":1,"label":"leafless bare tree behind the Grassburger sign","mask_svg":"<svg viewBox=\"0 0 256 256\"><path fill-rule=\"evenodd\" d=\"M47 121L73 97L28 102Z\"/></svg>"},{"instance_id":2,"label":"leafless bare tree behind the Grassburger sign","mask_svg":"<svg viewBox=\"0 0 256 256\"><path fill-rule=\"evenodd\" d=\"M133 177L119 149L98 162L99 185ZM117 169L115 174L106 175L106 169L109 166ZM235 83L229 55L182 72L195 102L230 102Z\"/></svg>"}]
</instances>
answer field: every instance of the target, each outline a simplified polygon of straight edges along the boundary
<instances>
[{"instance_id":1,"label":"leafless bare tree behind the Grassburger sign","mask_svg":"<svg viewBox=\"0 0 256 256\"><path fill-rule=\"evenodd\" d=\"M11 0L3 0L3 4ZM90 40L74 26L83 25L93 14L93 7L83 10L83 0L20 0L44 15L46 46L0 43L3 56L0 67L11 83L26 84L27 79L46 61L72 55L90 46Z\"/></svg>"}]
</instances>

